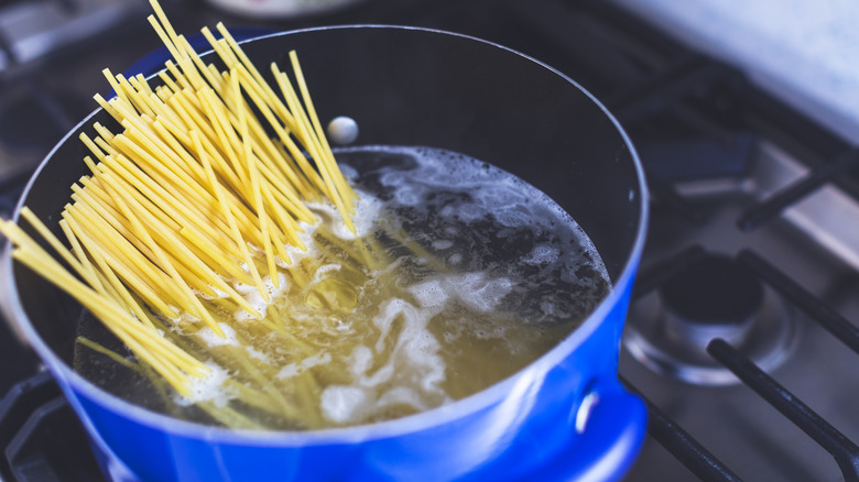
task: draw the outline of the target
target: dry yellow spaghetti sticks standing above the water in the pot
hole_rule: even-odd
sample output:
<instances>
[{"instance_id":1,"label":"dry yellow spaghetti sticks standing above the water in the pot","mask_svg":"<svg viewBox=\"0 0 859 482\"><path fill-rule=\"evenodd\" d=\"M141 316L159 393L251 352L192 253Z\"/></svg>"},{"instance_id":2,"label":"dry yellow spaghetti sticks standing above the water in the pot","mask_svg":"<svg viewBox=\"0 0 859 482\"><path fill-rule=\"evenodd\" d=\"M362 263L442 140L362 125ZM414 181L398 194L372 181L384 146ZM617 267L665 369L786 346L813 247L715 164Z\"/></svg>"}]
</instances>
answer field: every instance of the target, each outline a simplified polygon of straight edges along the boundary
<instances>
[{"instance_id":1,"label":"dry yellow spaghetti sticks standing above the water in the pot","mask_svg":"<svg viewBox=\"0 0 859 482\"><path fill-rule=\"evenodd\" d=\"M18 247L15 259L77 298L187 395L195 380L210 374L202 361L210 357L171 330L206 327L224 338L231 320L222 314L237 310L279 329L238 286L253 286L269 303L281 284L279 266L291 262L287 247L305 249L302 226L317 221L307 202L327 199L355 232L357 196L325 139L295 52L294 85L270 66L279 95L222 24L221 39L203 30L226 66L219 70L175 33L156 0L151 3L149 20L172 59L156 87L140 75L105 70L116 97L95 98L122 130L95 123L80 134L91 152L84 158L90 173L72 187L59 221L70 249L22 211L67 267L17 226L2 223L0 232ZM249 368L246 375L262 387L247 388L247 398L292 412L246 359L231 361Z\"/></svg>"}]
</instances>

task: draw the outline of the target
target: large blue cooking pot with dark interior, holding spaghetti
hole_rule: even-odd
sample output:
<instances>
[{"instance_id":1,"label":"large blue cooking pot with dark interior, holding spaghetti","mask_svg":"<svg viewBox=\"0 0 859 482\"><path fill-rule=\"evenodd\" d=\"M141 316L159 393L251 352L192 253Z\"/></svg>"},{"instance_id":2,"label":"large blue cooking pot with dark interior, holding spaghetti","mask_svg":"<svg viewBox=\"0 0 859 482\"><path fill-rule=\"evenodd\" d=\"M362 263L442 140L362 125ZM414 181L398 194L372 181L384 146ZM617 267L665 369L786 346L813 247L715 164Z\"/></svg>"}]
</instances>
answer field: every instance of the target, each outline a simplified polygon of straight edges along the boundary
<instances>
[{"instance_id":1,"label":"large blue cooking pot with dark interior, holding spaghetti","mask_svg":"<svg viewBox=\"0 0 859 482\"><path fill-rule=\"evenodd\" d=\"M645 412L617 380L620 335L646 226L641 166L617 121L552 68L476 39L347 26L244 44L261 66L295 48L323 119L347 114L361 143L427 145L491 162L536 186L594 241L613 288L584 324L507 380L461 401L366 426L241 431L171 418L70 368L80 308L3 255L6 308L55 375L117 481L617 480ZM261 69L267 70L267 69ZM85 173L77 136L47 156L28 205L48 226ZM52 222L53 221L53 222Z\"/></svg>"}]
</instances>

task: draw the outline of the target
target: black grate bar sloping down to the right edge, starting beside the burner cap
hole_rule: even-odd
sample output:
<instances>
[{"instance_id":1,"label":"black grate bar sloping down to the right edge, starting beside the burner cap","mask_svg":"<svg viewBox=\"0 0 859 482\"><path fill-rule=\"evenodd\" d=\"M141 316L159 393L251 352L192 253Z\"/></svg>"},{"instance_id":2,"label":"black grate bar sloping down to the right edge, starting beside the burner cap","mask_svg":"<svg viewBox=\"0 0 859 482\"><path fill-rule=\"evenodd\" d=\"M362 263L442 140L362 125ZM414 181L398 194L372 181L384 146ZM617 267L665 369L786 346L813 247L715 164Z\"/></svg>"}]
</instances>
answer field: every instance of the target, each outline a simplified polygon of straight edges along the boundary
<instances>
[{"instance_id":1,"label":"black grate bar sloping down to the right edge, starting beside the burner cap","mask_svg":"<svg viewBox=\"0 0 859 482\"><path fill-rule=\"evenodd\" d=\"M800 286L800 284L759 254L749 250L742 250L737 255L737 261L754 271L763 282L780 292L785 300L803 310L811 319L859 354L859 328L848 319Z\"/></svg>"}]
</instances>

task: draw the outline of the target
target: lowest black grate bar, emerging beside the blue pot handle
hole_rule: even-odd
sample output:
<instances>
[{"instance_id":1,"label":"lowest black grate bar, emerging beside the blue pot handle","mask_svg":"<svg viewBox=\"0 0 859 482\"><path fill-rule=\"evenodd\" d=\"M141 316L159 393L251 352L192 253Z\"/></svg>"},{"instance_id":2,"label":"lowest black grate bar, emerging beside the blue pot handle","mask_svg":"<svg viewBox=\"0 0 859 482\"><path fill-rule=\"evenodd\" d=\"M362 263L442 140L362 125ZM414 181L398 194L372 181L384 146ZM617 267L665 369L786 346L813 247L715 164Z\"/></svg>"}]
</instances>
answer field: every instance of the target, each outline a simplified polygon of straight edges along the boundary
<instances>
[{"instance_id":1,"label":"lowest black grate bar, emerging beside the blue pot handle","mask_svg":"<svg viewBox=\"0 0 859 482\"><path fill-rule=\"evenodd\" d=\"M676 421L665 415L648 397L622 376L627 388L635 392L648 405L648 434L704 482L740 482L740 479L719 459L702 446Z\"/></svg>"}]
</instances>

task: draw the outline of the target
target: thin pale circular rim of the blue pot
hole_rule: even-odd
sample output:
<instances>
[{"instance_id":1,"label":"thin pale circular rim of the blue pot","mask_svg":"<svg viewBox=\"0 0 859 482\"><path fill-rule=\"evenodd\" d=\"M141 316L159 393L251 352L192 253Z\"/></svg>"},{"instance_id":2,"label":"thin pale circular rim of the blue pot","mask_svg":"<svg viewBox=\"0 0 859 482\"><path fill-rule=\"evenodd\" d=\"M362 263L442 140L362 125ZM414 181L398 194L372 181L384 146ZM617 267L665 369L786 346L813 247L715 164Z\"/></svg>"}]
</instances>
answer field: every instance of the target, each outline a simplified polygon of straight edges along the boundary
<instances>
[{"instance_id":1,"label":"thin pale circular rim of the blue pot","mask_svg":"<svg viewBox=\"0 0 859 482\"><path fill-rule=\"evenodd\" d=\"M87 398L98 401L104 407L117 413L123 414L124 417L131 418L137 423L157 429L167 431L173 435L191 438L203 439L208 441L218 441L222 443L236 443L244 446L272 446L274 442L282 447L298 447L308 445L328 445L328 443L342 443L342 442L359 442L373 439L383 439L389 437L395 437L403 434L421 431L434 426L447 424L452 420L463 418L469 414L479 412L492 404L497 404L503 401L504 395L511 392L515 387L522 377L530 379L532 375L545 374L550 369L557 365L564 360L570 352L579 347L590 335L601 325L601 322L608 317L609 313L620 302L623 295L624 288L632 283L632 277L637 271L641 253L644 248L645 233L649 220L649 194L646 183L644 178L644 171L639 160L639 155L629 139L629 135L617 121L617 119L606 109L606 107L597 100L588 90L581 85L562 74L557 69L540 62L529 55L521 52L497 44L494 42L486 41L470 35L447 32L443 30L425 29L417 26L404 26L404 25L383 25L383 24L354 24L354 25L336 25L336 26L318 26L308 28L285 32L275 32L272 34L261 35L253 39L248 39L240 43L255 42L269 37L300 34L303 32L313 31L327 31L327 30L340 30L340 29L392 29L392 30L406 30L406 31L421 31L442 35L452 35L460 37L467 41L480 42L491 47L504 50L511 54L523 57L531 61L539 66L548 69L551 73L561 76L567 80L574 88L577 88L585 94L608 119L612 122L617 129L620 138L630 151L630 155L635 168L635 174L639 183L640 193L640 209L639 209L639 226L637 227L635 241L629 255L623 264L618 280L612 284L612 288L608 296L604 298L597 308L590 313L590 315L577 327L572 333L564 338L554 348L546 353L531 362L529 365L518 371L517 373L508 376L507 379L483 388L472 395L469 395L459 401L455 401L450 404L443 405L441 407L424 410L414 415L400 417L391 420L383 420L372 424L363 424L348 427L335 427L314 430L252 430L252 429L231 429L226 427L209 426L199 423L182 420L165 414L156 413L148 408L132 404L119 396L110 394L102 388L95 385L80 374L78 374L72 366L66 364L54 351L42 340L30 321L23 306L21 305L20 297L18 295L18 287L14 283L13 275L13 261L11 258L10 243L7 241L6 250L0 259L0 286L6 286L3 308L7 311L7 316L12 320L23 332L25 340L35 349L39 355L45 361L47 368L53 375L61 382L61 386L66 392L66 395L72 395L68 390L77 392ZM206 51L200 55L211 52ZM31 191L33 184L39 178L40 173L44 166L52 160L58 147L70 140L73 134L84 124L88 124L90 119L97 114L101 109L94 110L89 116L81 120L73 130L51 150L45 156L42 163L33 173L32 177L28 182L24 190L21 194L21 198L15 206L14 215L12 219L18 222L20 219L20 210L23 207L23 200ZM633 196L634 191L630 191L630 196ZM597 247L597 250L599 247ZM76 395L76 394L75 394ZM79 414L83 415L83 414Z\"/></svg>"}]
</instances>

